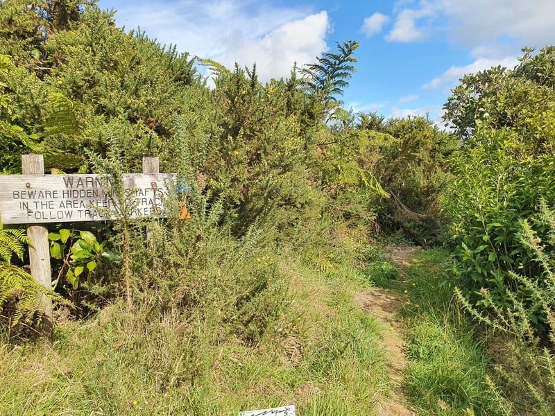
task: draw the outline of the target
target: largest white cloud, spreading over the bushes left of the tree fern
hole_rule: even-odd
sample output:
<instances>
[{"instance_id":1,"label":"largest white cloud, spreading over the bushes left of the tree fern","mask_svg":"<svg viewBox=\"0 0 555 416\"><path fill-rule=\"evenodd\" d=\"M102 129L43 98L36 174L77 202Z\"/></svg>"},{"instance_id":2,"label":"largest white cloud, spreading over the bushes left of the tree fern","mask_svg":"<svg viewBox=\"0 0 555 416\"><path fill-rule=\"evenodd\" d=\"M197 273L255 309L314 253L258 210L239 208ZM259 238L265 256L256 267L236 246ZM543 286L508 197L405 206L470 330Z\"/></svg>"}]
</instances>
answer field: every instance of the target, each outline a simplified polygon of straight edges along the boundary
<instances>
[{"instance_id":1,"label":"largest white cloud, spreading over the bushes left of the tree fern","mask_svg":"<svg viewBox=\"0 0 555 416\"><path fill-rule=\"evenodd\" d=\"M305 6L278 8L255 0L120 4L112 2L117 24L126 30L140 26L160 44L175 44L178 51L226 67L235 62L252 67L256 61L262 81L289 76L294 62L315 62L327 50L325 36L331 31L327 12L311 13ZM120 21L120 15L125 19Z\"/></svg>"}]
</instances>

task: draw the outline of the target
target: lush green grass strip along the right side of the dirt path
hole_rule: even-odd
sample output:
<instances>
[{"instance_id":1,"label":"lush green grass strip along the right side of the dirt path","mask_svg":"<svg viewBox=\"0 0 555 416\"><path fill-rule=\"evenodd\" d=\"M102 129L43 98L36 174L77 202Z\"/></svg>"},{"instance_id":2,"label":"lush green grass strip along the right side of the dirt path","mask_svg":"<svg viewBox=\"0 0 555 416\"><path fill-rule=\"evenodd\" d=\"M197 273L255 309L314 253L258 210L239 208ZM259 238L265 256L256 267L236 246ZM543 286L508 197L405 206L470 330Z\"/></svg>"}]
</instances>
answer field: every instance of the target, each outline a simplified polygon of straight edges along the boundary
<instances>
[{"instance_id":1,"label":"lush green grass strip along the right side of the dirt path","mask_svg":"<svg viewBox=\"0 0 555 416\"><path fill-rule=\"evenodd\" d=\"M446 254L418 252L407 270L404 387L422 414L511 415L509 402L491 379L491 362L476 327L454 302L442 274Z\"/></svg>"}]
</instances>

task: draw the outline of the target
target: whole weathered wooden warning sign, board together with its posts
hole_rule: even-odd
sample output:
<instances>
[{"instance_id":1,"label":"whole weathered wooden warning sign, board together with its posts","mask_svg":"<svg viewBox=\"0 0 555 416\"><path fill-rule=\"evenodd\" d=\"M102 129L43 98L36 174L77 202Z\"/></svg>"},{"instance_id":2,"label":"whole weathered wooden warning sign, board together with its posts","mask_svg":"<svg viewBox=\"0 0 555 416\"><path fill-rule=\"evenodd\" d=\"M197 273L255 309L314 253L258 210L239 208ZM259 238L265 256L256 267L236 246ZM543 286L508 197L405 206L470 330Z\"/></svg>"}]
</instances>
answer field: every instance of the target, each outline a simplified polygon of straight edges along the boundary
<instances>
[{"instance_id":1,"label":"whole weathered wooden warning sign, board together with its posts","mask_svg":"<svg viewBox=\"0 0 555 416\"><path fill-rule=\"evenodd\" d=\"M119 212L110 175L44 175L42 155L22 155L22 175L0 175L0 218L4 224L27 224L29 261L35 281L51 290L50 250L46 223L68 223L164 216L164 200L175 173L159 173L157 157L143 158L144 173L123 174L130 212ZM121 217L120 217L121 218ZM40 299L42 332L50 333L52 304Z\"/></svg>"}]
</instances>

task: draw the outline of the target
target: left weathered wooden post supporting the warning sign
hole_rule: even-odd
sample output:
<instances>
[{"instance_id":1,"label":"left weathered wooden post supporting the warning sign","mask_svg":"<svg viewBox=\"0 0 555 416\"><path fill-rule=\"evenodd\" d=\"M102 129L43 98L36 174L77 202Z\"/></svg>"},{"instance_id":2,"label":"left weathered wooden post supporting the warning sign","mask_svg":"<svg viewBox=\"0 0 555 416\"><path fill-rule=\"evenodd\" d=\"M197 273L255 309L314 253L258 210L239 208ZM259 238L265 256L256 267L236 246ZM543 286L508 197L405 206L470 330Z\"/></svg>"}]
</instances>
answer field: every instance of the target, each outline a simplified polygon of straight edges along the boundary
<instances>
[{"instance_id":1,"label":"left weathered wooden post supporting the warning sign","mask_svg":"<svg viewBox=\"0 0 555 416\"><path fill-rule=\"evenodd\" d=\"M22 172L24 175L44 176L44 158L42 155L22 155ZM29 261L33 279L48 291L52 288L50 268L50 250L48 243L48 229L44 225L28 225L27 236L31 239L29 246ZM49 336L52 332L53 312L52 302L45 295L40 297L42 321L40 331Z\"/></svg>"}]
</instances>

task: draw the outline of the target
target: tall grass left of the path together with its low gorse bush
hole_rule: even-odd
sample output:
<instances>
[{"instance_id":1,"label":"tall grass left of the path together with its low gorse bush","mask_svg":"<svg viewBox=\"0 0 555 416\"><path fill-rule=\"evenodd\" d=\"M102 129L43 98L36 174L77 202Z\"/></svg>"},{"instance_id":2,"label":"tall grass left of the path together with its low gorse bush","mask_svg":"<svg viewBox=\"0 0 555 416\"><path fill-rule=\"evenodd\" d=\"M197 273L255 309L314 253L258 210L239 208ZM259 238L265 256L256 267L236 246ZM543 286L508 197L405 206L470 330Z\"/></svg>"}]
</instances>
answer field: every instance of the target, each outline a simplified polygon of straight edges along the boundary
<instances>
[{"instance_id":1,"label":"tall grass left of the path together with its low gorse bush","mask_svg":"<svg viewBox=\"0 0 555 416\"><path fill-rule=\"evenodd\" d=\"M299 257L255 227L234 239L202 202L149 243L131 229L131 308L122 287L88 320L60 322L51 343L3 345L0 415L377 413L389 386L381 328L353 300L367 285L359 245L335 236L352 250L307 245Z\"/></svg>"}]
</instances>

